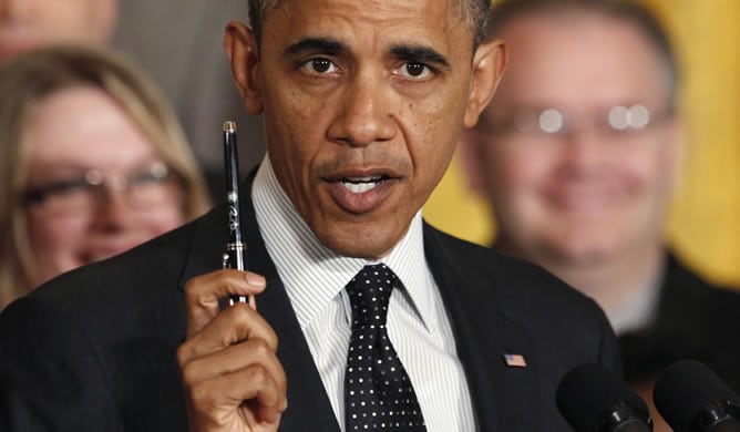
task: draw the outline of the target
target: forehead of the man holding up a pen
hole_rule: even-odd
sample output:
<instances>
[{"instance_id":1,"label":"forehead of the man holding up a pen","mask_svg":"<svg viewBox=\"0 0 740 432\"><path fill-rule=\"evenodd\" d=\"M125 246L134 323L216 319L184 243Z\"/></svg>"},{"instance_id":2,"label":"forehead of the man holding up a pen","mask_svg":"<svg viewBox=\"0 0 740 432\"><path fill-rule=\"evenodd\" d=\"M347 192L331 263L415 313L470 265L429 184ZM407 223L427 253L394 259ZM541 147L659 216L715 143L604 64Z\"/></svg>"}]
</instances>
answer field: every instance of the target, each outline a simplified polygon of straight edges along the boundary
<instances>
[{"instance_id":1,"label":"forehead of the man holding up a pen","mask_svg":"<svg viewBox=\"0 0 740 432\"><path fill-rule=\"evenodd\" d=\"M441 51L470 41L458 0L284 0L263 20L263 35L300 40L330 37L352 47L404 42Z\"/></svg>"}]
</instances>

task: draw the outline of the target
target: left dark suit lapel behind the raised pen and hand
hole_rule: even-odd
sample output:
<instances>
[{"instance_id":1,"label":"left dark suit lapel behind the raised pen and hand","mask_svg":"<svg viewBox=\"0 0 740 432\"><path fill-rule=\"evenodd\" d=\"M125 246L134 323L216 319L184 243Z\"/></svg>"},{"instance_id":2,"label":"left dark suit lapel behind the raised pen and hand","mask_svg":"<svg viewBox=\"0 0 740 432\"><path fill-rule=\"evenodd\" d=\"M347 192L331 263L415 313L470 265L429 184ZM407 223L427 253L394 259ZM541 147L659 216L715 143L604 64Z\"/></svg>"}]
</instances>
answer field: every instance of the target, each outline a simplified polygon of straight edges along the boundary
<instances>
[{"instance_id":1,"label":"left dark suit lapel behind the raised pen and hand","mask_svg":"<svg viewBox=\"0 0 740 432\"><path fill-rule=\"evenodd\" d=\"M280 430L339 431L290 300L259 234L250 193L255 172L241 185L241 223L247 243L248 268L267 279L267 289L257 297L257 310L278 336L278 358L288 380L288 410L282 414ZM193 276L220 268L220 255L228 237L225 206L217 206L201 222L181 287Z\"/></svg>"}]
</instances>

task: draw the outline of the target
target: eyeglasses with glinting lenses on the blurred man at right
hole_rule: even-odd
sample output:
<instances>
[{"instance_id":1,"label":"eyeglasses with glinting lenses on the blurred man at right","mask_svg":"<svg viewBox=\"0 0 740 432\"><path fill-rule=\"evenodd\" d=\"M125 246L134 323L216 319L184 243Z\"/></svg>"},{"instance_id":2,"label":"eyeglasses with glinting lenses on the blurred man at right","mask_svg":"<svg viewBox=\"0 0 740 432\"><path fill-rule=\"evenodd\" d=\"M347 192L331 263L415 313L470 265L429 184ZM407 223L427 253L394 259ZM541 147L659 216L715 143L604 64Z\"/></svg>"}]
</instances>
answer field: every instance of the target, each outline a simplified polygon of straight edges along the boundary
<instances>
[{"instance_id":1,"label":"eyeglasses with glinting lenses on the blurred man at right","mask_svg":"<svg viewBox=\"0 0 740 432\"><path fill-rule=\"evenodd\" d=\"M616 105L596 111L590 116L573 115L553 107L516 110L494 120L486 132L500 135L517 134L535 140L558 138L584 127L600 136L627 137L648 130L672 115L672 110L651 111L645 105Z\"/></svg>"}]
</instances>

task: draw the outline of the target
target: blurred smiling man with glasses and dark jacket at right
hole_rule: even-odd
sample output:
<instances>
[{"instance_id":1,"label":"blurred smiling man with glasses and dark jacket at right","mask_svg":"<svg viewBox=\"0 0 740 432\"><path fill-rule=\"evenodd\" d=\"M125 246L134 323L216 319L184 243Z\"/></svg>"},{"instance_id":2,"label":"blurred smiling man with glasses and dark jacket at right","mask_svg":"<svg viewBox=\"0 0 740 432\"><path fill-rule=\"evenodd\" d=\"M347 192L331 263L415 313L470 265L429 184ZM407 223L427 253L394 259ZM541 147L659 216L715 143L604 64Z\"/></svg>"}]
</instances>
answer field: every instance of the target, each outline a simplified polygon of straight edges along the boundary
<instances>
[{"instance_id":1,"label":"blurred smiling man with glasses and dark jacket at right","mask_svg":"<svg viewBox=\"0 0 740 432\"><path fill-rule=\"evenodd\" d=\"M644 394L682 358L740 390L728 343L740 294L689 269L664 236L685 152L666 31L614 1L502 1L492 17L510 62L462 156L495 216L493 246L594 298Z\"/></svg>"}]
</instances>

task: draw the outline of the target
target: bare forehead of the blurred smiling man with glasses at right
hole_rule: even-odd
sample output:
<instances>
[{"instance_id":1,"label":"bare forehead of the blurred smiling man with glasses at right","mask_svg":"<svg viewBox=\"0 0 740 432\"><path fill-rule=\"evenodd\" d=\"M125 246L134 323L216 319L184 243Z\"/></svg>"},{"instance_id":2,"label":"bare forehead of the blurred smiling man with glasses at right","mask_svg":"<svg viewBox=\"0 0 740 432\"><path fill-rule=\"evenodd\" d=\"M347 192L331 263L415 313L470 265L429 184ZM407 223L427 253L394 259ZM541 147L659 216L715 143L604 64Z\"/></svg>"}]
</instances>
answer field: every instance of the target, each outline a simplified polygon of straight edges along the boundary
<instances>
[{"instance_id":1,"label":"bare forehead of the blurred smiling man with glasses at right","mask_svg":"<svg viewBox=\"0 0 740 432\"><path fill-rule=\"evenodd\" d=\"M555 104L662 102L665 69L634 24L594 12L527 16L502 38L510 63L496 99Z\"/></svg>"}]
</instances>

